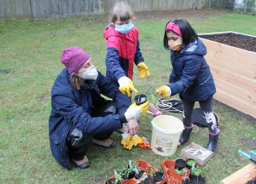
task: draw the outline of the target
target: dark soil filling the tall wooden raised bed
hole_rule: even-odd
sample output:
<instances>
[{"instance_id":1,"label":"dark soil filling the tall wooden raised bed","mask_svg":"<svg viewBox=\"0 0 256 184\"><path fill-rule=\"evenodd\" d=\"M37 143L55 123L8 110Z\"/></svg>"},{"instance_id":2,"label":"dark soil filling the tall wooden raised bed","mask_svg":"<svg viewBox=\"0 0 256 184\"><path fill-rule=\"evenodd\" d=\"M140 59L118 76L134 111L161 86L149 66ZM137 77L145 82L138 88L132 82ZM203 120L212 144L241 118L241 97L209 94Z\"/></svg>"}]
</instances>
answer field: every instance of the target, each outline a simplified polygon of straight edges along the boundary
<instances>
[{"instance_id":1,"label":"dark soil filling the tall wooden raised bed","mask_svg":"<svg viewBox=\"0 0 256 184\"><path fill-rule=\"evenodd\" d=\"M256 38L236 33L199 35L211 41L216 41L221 44L230 45L236 48L245 49L251 52L256 52Z\"/></svg>"}]
</instances>

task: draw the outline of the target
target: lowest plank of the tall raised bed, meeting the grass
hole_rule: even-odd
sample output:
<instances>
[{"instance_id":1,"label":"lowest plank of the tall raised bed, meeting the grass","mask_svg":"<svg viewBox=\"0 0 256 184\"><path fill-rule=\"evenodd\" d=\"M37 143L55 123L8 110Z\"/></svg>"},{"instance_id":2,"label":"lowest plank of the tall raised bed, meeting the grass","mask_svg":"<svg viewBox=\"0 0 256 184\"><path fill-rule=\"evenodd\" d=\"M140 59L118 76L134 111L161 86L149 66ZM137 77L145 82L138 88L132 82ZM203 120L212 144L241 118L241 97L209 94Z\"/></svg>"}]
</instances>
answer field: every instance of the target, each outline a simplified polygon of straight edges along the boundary
<instances>
[{"instance_id":1,"label":"lowest plank of the tall raised bed, meeting the grass","mask_svg":"<svg viewBox=\"0 0 256 184\"><path fill-rule=\"evenodd\" d=\"M214 99L217 99L221 103L225 103L226 105L231 106L236 110L240 110L244 114L249 114L256 118L255 106L250 106L248 103L243 102L243 100L238 99L236 96L231 96L229 93L221 91L221 89L217 90L218 92L214 94Z\"/></svg>"}]
</instances>

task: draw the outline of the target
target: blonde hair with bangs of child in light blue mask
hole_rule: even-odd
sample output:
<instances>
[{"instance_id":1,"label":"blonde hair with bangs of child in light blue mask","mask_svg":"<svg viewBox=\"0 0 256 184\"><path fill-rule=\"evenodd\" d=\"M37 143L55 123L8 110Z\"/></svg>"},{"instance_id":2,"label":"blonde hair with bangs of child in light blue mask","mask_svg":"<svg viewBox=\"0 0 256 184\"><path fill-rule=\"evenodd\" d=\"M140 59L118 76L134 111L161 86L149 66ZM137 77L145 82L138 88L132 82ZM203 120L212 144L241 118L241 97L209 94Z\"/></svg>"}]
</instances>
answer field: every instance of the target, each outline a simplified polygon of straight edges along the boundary
<instances>
[{"instance_id":1,"label":"blonde hair with bangs of child in light blue mask","mask_svg":"<svg viewBox=\"0 0 256 184\"><path fill-rule=\"evenodd\" d=\"M112 7L111 20L115 23L116 20L126 21L133 20L133 10L126 2L116 2Z\"/></svg>"}]
</instances>

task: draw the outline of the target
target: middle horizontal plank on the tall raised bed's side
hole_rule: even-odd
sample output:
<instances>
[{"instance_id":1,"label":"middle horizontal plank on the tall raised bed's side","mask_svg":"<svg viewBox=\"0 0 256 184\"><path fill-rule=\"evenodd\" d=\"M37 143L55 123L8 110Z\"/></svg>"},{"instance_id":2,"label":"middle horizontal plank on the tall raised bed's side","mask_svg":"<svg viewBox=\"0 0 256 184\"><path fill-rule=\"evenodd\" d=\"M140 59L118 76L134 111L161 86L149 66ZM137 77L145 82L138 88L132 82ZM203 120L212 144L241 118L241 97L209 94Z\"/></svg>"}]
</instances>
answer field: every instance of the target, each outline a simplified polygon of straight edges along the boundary
<instances>
[{"instance_id":1,"label":"middle horizontal plank on the tall raised bed's side","mask_svg":"<svg viewBox=\"0 0 256 184\"><path fill-rule=\"evenodd\" d=\"M220 67L214 67L210 65L210 71L213 74L214 78L217 78L226 83L237 85L240 88L243 88L247 92L256 93L256 81L253 81L248 78L244 78L241 75L234 74L228 70L225 70Z\"/></svg>"}]
</instances>

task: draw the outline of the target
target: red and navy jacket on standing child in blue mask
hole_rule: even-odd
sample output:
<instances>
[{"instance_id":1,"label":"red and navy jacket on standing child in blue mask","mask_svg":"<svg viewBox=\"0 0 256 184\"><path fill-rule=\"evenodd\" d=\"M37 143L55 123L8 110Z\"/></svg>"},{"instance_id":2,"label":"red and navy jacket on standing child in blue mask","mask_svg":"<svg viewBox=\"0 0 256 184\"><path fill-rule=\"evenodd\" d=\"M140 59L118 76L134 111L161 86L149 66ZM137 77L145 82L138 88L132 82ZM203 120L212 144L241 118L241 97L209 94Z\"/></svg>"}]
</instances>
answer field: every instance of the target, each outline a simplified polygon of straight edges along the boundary
<instances>
[{"instance_id":1,"label":"red and navy jacket on standing child in blue mask","mask_svg":"<svg viewBox=\"0 0 256 184\"><path fill-rule=\"evenodd\" d=\"M137 65L144 61L137 27L123 34L115 31L114 25L110 25L103 35L107 41L106 77L112 81L118 81L124 76L133 80L133 63Z\"/></svg>"}]
</instances>

